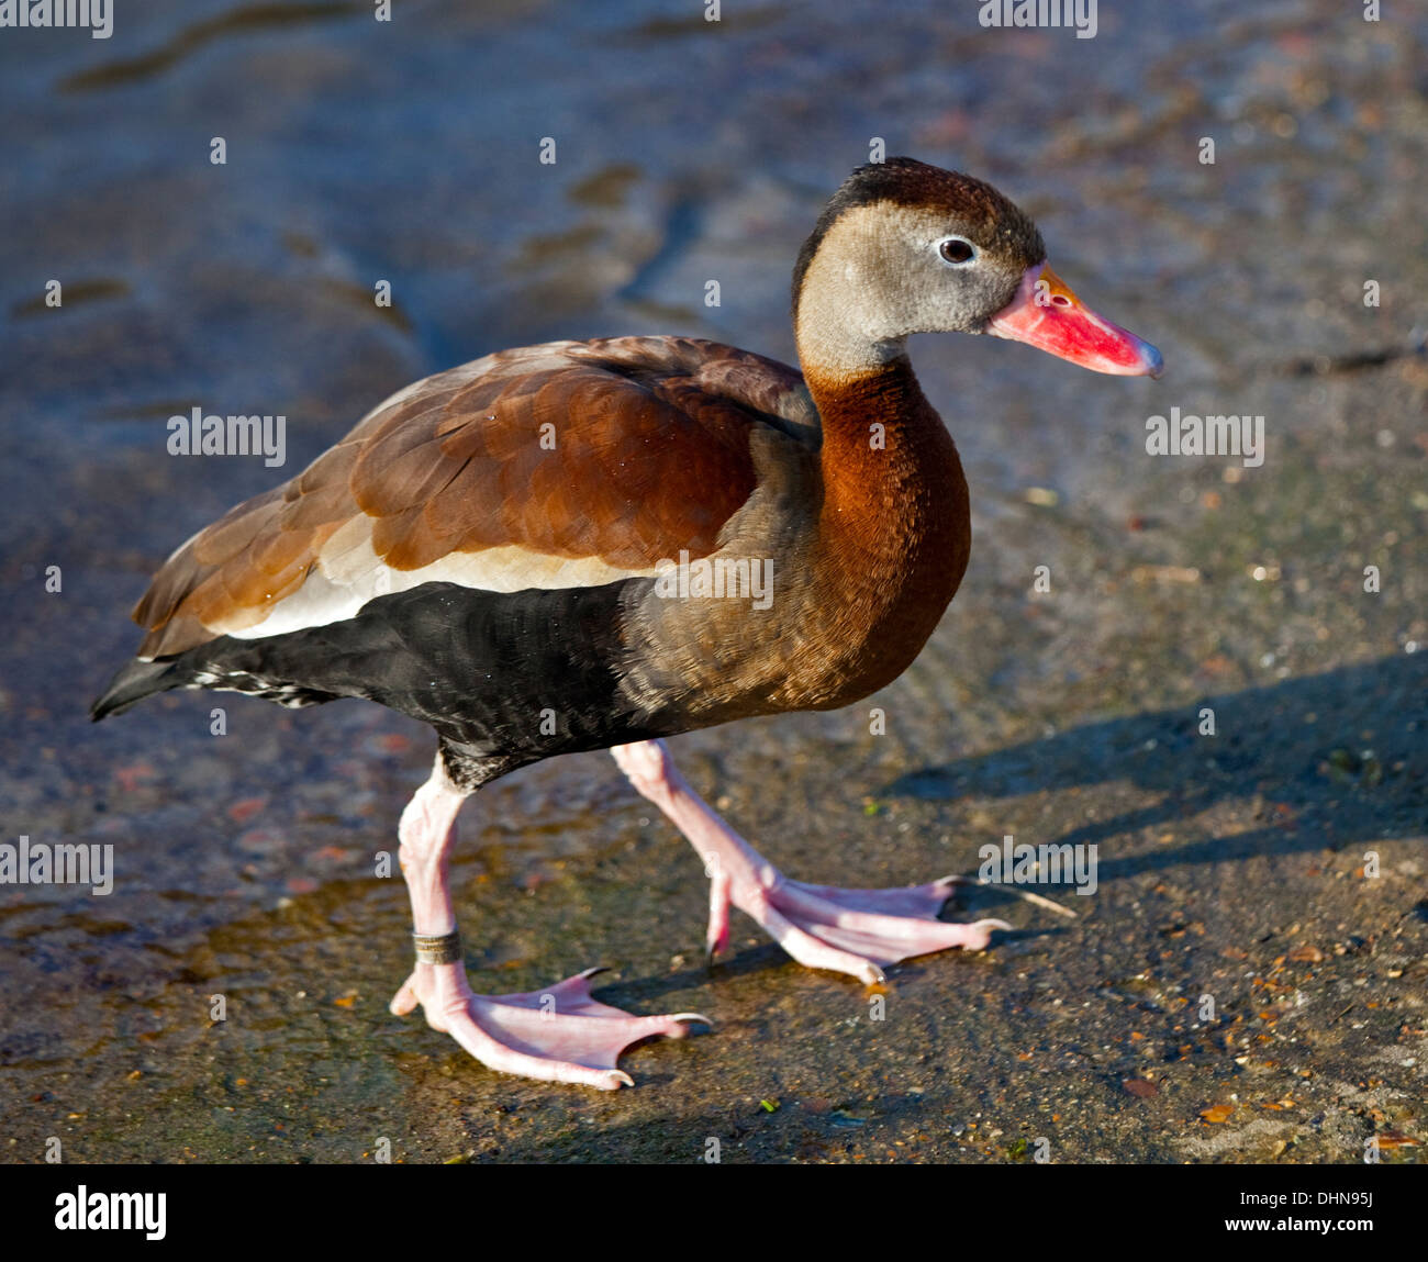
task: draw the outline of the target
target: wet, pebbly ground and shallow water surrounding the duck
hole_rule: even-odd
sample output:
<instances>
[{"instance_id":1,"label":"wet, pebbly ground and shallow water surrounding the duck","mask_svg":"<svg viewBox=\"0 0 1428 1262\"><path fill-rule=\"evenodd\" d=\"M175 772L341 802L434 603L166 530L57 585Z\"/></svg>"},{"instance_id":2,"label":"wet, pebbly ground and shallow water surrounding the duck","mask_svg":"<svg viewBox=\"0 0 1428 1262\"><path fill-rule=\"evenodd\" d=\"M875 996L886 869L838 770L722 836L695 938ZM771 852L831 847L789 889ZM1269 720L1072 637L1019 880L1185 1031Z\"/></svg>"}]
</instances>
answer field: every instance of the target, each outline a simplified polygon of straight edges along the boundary
<instances>
[{"instance_id":1,"label":"wet, pebbly ground and shallow water surrounding the duck","mask_svg":"<svg viewBox=\"0 0 1428 1262\"><path fill-rule=\"evenodd\" d=\"M1105 0L1077 40L972 4L398 7L0 31L0 841L116 864L103 898L0 885L0 1161L50 1136L74 1162L381 1139L410 1162L1422 1161L1428 21ZM934 641L863 705L674 749L804 879L974 872L1011 834L1094 844L1098 888L1041 889L1074 919L971 891L950 915L1014 931L881 996L737 917L707 971L688 847L604 755L528 768L461 821L477 988L604 964L605 1002L715 1029L627 1055L634 1091L493 1075L386 1009L407 902L374 855L430 732L358 702L86 707L167 552L416 377L614 333L791 358L794 254L873 137L1017 198L1168 371L915 340L975 530ZM287 464L169 455L194 405L286 415ZM1264 464L1148 455L1171 407L1264 415Z\"/></svg>"}]
</instances>

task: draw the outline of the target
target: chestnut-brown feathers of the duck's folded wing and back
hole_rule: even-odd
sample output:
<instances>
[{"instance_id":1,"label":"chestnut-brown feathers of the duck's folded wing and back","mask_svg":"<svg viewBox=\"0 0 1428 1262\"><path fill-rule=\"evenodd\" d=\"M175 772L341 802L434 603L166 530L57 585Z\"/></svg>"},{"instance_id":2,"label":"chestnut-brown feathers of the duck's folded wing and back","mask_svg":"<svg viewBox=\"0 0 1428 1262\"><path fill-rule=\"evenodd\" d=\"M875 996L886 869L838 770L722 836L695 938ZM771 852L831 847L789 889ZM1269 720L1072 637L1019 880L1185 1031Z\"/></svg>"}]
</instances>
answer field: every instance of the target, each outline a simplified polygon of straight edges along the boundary
<instances>
[{"instance_id":1,"label":"chestnut-brown feathers of the duck's folded wing and back","mask_svg":"<svg viewBox=\"0 0 1428 1262\"><path fill-rule=\"evenodd\" d=\"M134 610L140 655L260 624L361 517L403 571L510 545L633 570L708 555L754 490L751 428L805 398L793 368L685 338L554 343L430 377L174 552Z\"/></svg>"}]
</instances>

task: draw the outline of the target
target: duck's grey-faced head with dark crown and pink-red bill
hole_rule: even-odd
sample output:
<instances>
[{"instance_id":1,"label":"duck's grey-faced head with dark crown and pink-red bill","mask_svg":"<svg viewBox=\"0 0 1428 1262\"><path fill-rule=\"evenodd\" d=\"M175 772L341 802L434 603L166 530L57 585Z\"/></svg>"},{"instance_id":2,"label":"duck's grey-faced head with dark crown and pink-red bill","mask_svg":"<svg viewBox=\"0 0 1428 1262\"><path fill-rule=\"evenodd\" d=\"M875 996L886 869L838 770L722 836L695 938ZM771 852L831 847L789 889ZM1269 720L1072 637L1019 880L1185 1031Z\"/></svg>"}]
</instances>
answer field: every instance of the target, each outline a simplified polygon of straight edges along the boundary
<instances>
[{"instance_id":1,"label":"duck's grey-faced head with dark crown and pink-red bill","mask_svg":"<svg viewBox=\"0 0 1428 1262\"><path fill-rule=\"evenodd\" d=\"M870 371L912 333L990 333L1097 373L1158 377L1161 354L1087 307L1037 226L990 184L912 158L858 167L794 268L805 371Z\"/></svg>"}]
</instances>

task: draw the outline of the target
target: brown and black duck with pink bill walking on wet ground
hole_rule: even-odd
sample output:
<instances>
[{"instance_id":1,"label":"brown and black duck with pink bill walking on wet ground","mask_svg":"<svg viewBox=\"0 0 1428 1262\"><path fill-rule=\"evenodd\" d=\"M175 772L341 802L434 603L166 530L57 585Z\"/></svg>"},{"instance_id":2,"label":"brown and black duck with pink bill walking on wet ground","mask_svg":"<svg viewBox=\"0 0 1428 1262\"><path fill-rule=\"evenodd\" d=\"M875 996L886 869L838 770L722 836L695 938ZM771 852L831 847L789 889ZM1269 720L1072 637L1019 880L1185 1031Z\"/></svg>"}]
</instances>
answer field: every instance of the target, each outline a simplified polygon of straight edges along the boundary
<instances>
[{"instance_id":1,"label":"brown and black duck with pink bill walking on wet ground","mask_svg":"<svg viewBox=\"0 0 1428 1262\"><path fill-rule=\"evenodd\" d=\"M471 988L448 862L463 804L560 754L608 749L694 845L707 948L737 908L795 961L865 984L985 949L938 919L955 878L888 889L784 875L691 788L667 739L847 707L917 658L967 568L957 445L908 358L917 333L1008 338L1160 375L1087 307L991 184L908 157L854 170L793 270L798 368L694 337L503 350L391 395L288 483L184 542L133 611L147 632L97 721L200 688L304 708L366 698L436 732L397 835L417 1006L490 1069L598 1089L694 1012L628 1014L591 976Z\"/></svg>"}]
</instances>

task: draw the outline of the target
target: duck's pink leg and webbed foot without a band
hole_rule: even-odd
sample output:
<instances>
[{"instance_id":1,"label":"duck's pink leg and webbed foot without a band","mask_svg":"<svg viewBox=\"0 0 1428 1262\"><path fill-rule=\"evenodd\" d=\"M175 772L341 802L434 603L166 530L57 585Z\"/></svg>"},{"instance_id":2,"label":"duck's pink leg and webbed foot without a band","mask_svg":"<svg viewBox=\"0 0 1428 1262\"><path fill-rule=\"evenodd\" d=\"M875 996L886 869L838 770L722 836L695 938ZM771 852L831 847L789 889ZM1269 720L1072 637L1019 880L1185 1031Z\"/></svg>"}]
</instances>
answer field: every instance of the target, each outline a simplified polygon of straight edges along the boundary
<instances>
[{"instance_id":1,"label":"duck's pink leg and webbed foot without a band","mask_svg":"<svg viewBox=\"0 0 1428 1262\"><path fill-rule=\"evenodd\" d=\"M950 925L938 911L957 885L944 877L905 889L838 889L790 881L730 828L680 775L663 741L610 751L704 859L710 878L710 956L728 945L730 904L753 917L800 964L883 981L880 965L965 946L981 951L1005 921Z\"/></svg>"}]
</instances>

